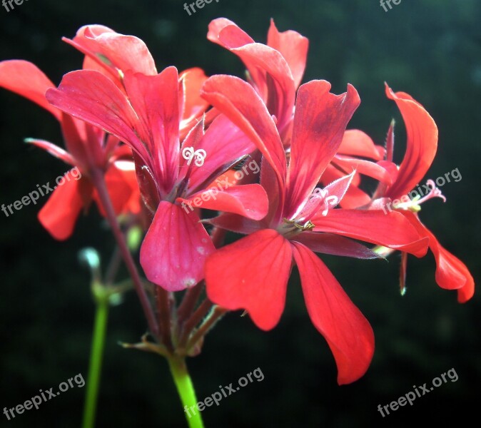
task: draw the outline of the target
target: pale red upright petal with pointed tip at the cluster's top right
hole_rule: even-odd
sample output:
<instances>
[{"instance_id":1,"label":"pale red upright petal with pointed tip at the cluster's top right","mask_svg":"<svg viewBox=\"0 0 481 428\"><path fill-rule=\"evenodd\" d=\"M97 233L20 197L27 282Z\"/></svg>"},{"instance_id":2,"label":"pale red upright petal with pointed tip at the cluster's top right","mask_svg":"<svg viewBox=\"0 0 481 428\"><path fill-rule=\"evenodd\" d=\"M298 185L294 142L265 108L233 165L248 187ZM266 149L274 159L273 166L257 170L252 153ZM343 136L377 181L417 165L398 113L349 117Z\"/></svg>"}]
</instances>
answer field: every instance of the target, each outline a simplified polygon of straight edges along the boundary
<instances>
[{"instance_id":1,"label":"pale red upright petal with pointed tip at the cluster's top right","mask_svg":"<svg viewBox=\"0 0 481 428\"><path fill-rule=\"evenodd\" d=\"M305 62L308 57L309 41L296 31L283 31L280 33L275 27L274 20L270 20L267 44L279 51L287 61L293 74L294 85L297 88L303 80Z\"/></svg>"}]
</instances>

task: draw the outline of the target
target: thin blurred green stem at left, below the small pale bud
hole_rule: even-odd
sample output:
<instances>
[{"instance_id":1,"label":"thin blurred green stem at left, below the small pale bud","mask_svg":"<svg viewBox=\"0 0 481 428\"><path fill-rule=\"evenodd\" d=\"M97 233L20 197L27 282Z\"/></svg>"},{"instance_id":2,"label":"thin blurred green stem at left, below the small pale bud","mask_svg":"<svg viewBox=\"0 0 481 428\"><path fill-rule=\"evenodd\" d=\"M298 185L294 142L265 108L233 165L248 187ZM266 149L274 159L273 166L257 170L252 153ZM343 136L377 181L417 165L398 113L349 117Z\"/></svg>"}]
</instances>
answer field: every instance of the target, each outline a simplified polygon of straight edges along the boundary
<instances>
[{"instance_id":1,"label":"thin blurred green stem at left, below the small pale bud","mask_svg":"<svg viewBox=\"0 0 481 428\"><path fill-rule=\"evenodd\" d=\"M98 388L100 386L100 374L102 367L103 347L108 320L108 294L95 290L93 295L96 301L95 322L93 324L92 348L90 363L88 366L87 388L85 407L83 408L82 428L95 426L95 414L97 408Z\"/></svg>"}]
</instances>

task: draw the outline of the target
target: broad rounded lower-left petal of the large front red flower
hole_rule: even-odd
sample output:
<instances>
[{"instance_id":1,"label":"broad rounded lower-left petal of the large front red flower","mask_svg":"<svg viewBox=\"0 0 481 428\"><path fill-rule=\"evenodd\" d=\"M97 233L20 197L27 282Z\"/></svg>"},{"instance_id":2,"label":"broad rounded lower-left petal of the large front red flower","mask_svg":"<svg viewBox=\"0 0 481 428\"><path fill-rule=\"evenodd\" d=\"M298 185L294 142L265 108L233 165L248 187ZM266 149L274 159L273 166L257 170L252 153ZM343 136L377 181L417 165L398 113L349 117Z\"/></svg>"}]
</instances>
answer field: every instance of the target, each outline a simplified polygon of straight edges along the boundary
<instances>
[{"instance_id":1,"label":"broad rounded lower-left petal of the large front red flower","mask_svg":"<svg viewBox=\"0 0 481 428\"><path fill-rule=\"evenodd\" d=\"M284 310L291 261L288 241L260 230L207 259L207 295L226 309L247 310L255 325L271 330Z\"/></svg>"}]
</instances>

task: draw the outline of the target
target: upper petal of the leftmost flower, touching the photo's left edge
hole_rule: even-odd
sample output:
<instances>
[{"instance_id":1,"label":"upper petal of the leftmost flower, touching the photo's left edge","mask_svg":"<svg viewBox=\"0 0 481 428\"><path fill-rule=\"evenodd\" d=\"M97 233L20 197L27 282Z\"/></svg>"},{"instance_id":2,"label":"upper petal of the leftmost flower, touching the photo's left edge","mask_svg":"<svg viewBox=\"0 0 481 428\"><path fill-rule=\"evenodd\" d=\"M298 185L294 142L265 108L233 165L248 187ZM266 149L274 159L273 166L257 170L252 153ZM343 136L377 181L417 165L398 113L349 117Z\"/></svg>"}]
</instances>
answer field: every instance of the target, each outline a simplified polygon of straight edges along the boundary
<instances>
[{"instance_id":1,"label":"upper petal of the leftmost flower, touching the photo's left edge","mask_svg":"<svg viewBox=\"0 0 481 428\"><path fill-rule=\"evenodd\" d=\"M61 112L51 106L45 98L46 90L54 88L54 83L29 61L18 59L1 61L0 86L37 103L60 121Z\"/></svg>"}]
</instances>

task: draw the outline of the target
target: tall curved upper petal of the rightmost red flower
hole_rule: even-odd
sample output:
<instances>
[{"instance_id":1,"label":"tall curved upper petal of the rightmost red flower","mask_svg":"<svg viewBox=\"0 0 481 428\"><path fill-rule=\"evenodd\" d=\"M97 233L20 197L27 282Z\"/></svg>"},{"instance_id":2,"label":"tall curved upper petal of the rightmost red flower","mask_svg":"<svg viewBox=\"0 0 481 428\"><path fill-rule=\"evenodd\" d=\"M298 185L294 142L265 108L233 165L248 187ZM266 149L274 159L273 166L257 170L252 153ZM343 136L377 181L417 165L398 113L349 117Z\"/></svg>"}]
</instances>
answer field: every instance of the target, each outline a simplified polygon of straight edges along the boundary
<instances>
[{"instance_id":1,"label":"tall curved upper petal of the rightmost red flower","mask_svg":"<svg viewBox=\"0 0 481 428\"><path fill-rule=\"evenodd\" d=\"M437 126L420 103L407 93L394 93L386 84L386 95L398 105L407 133L406 154L398 179L386 194L395 199L412 190L430 168L437 150Z\"/></svg>"}]
</instances>

